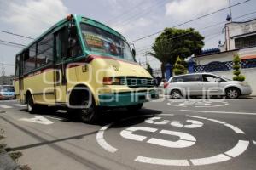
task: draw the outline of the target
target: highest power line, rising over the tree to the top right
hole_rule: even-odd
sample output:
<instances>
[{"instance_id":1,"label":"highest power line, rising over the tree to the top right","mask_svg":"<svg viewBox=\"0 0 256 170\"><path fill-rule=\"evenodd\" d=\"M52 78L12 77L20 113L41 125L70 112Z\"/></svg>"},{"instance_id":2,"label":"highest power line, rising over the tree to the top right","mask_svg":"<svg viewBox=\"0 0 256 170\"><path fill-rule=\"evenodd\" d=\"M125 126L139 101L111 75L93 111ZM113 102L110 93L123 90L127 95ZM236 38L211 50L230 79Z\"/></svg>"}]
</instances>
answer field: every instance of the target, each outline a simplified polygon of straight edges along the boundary
<instances>
[{"instance_id":1,"label":"highest power line, rising over the tree to the top right","mask_svg":"<svg viewBox=\"0 0 256 170\"><path fill-rule=\"evenodd\" d=\"M227 8L236 7L236 6L238 6L238 5L241 5L241 4L243 4L243 3L247 3L247 2L249 2L249 1L251 1L251 0L246 0L246 1L243 1L243 2L241 2L241 3L236 3L236 4L233 4L233 5L231 5L231 6L229 6L229 7L226 7L226 8L220 8L220 9L218 9L218 10L216 10L216 11L213 11L212 13L203 14L203 15L201 15L201 16L199 16L199 17L196 17L195 19L185 21L185 22L183 22L183 23L181 23L181 24L178 24L178 25L176 25L176 26L172 26L172 28L173 28L173 27L177 27L177 26L183 26L183 25L188 24L188 23L190 23L190 22L193 22L193 21L195 21L195 20L200 20L200 19L205 18L205 17L207 17L207 16L209 16L209 15L216 14L216 13L219 13L219 12L221 12L221 11L224 11L224 10L227 9ZM148 37L152 37L152 36L154 36L154 35L156 35L156 34L159 34L160 32L162 32L162 31L157 31L157 32L154 32L154 33L149 34L149 35L147 35L147 36L137 38L136 40L133 40L133 41L131 41L130 43L132 43L132 42L137 42L137 41L143 40L143 39L148 38Z\"/></svg>"}]
</instances>

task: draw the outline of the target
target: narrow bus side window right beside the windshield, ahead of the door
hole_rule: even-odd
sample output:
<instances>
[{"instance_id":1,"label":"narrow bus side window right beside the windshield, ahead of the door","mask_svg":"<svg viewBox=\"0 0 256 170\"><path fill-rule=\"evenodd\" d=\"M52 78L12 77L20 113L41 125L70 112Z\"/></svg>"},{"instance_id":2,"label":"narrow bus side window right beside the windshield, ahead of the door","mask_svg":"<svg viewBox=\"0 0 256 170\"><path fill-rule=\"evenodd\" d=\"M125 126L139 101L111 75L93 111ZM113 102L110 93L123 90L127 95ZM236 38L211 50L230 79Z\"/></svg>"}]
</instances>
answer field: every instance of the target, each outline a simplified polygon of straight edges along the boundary
<instances>
[{"instance_id":1,"label":"narrow bus side window right beside the windshield, ahead of the door","mask_svg":"<svg viewBox=\"0 0 256 170\"><path fill-rule=\"evenodd\" d=\"M82 55L82 48L76 26L70 27L68 43L68 57L78 57Z\"/></svg>"}]
</instances>

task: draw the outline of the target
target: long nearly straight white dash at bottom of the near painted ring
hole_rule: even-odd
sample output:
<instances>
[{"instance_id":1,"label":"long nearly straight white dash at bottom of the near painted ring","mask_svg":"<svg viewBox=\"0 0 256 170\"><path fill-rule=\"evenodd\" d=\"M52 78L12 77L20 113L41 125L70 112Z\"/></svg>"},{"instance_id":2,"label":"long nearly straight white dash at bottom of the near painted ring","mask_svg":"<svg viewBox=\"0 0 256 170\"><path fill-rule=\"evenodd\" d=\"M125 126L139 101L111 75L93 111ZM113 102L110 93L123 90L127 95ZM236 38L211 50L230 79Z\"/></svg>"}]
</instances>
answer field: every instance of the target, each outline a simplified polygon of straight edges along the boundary
<instances>
[{"instance_id":1,"label":"long nearly straight white dash at bottom of the near painted ring","mask_svg":"<svg viewBox=\"0 0 256 170\"><path fill-rule=\"evenodd\" d=\"M189 166L189 161L187 160L157 159L157 158L151 158L151 157L145 157L145 156L137 156L137 158L134 161L154 164L154 165Z\"/></svg>"}]
</instances>

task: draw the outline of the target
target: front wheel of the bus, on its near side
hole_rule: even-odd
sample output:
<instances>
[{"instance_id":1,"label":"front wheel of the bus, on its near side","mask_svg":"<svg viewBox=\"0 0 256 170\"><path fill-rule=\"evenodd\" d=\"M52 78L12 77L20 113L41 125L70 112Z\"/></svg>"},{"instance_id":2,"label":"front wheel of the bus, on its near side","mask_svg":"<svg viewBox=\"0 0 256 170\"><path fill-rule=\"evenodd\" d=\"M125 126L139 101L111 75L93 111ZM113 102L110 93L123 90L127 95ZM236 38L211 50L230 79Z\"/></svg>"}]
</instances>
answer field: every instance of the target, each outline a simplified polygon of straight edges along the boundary
<instances>
[{"instance_id":1,"label":"front wheel of the bus, on its near side","mask_svg":"<svg viewBox=\"0 0 256 170\"><path fill-rule=\"evenodd\" d=\"M79 117L82 122L95 123L99 118L99 108L96 106L95 101L92 99L91 104L88 103L88 99L82 101L79 109Z\"/></svg>"}]
</instances>

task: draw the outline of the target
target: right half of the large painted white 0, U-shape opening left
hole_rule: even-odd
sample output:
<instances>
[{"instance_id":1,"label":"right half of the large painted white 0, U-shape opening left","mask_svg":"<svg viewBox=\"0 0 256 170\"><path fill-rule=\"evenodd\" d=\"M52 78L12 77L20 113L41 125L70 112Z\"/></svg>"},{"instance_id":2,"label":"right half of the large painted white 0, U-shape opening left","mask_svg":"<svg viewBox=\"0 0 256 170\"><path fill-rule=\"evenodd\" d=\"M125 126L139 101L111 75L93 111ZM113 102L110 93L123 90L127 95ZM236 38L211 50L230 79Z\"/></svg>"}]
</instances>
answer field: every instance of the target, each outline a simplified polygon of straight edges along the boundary
<instances>
[{"instance_id":1,"label":"right half of the large painted white 0, U-shape opening left","mask_svg":"<svg viewBox=\"0 0 256 170\"><path fill-rule=\"evenodd\" d=\"M172 136L178 136L179 140L172 142L164 139L151 138L147 141L147 143L165 146L168 148L186 148L195 144L195 141L196 141L195 137L190 135L189 133L181 133L181 132L175 132L175 131L169 131L169 130L161 130L160 133L168 134Z\"/></svg>"}]
</instances>

